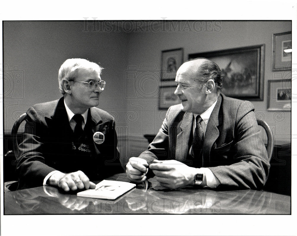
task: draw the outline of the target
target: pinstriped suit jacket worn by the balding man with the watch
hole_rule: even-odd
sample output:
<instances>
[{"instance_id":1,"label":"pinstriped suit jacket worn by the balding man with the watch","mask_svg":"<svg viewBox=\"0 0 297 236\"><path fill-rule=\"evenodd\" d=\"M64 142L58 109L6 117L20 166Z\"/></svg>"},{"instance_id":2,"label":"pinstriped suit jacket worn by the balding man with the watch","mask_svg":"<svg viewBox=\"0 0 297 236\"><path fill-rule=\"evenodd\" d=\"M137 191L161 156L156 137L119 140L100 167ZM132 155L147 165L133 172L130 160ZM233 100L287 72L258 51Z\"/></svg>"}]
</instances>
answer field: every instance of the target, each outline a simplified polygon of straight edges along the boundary
<instances>
[{"instance_id":1,"label":"pinstriped suit jacket worn by the balding man with the watch","mask_svg":"<svg viewBox=\"0 0 297 236\"><path fill-rule=\"evenodd\" d=\"M174 159L193 167L208 167L220 182L218 187L261 189L269 162L251 102L221 94L204 135L201 165L189 156L193 113L171 106L157 136L140 158Z\"/></svg>"}]
</instances>

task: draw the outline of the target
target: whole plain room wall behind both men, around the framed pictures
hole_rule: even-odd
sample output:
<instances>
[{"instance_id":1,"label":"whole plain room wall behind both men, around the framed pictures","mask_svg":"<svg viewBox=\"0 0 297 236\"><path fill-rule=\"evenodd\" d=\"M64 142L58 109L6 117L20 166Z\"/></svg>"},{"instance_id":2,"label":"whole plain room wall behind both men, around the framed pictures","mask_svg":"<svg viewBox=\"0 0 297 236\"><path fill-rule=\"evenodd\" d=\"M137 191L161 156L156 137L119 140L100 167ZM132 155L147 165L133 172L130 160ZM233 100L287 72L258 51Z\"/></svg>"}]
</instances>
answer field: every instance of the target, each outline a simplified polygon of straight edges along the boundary
<instances>
[{"instance_id":1,"label":"whole plain room wall behind both men, around the framed pictures","mask_svg":"<svg viewBox=\"0 0 297 236\"><path fill-rule=\"evenodd\" d=\"M184 48L188 54L265 44L264 100L253 101L256 115L264 118L275 139L290 142L290 112L267 111L268 80L272 73L272 35L291 30L288 21L191 22L149 24L146 28L99 32L84 22L4 22L4 131L33 104L58 99L57 75L67 58L101 62L107 81L99 107L116 119L119 149L127 158L147 148L143 134L156 134L165 116L158 109L161 51ZM135 24L137 25L137 24ZM141 24L140 24L141 25ZM171 28L170 28L171 27ZM87 32L84 32L87 31ZM103 30L104 31L104 30ZM287 76L289 72L282 72ZM17 77L20 75L19 77Z\"/></svg>"}]
</instances>

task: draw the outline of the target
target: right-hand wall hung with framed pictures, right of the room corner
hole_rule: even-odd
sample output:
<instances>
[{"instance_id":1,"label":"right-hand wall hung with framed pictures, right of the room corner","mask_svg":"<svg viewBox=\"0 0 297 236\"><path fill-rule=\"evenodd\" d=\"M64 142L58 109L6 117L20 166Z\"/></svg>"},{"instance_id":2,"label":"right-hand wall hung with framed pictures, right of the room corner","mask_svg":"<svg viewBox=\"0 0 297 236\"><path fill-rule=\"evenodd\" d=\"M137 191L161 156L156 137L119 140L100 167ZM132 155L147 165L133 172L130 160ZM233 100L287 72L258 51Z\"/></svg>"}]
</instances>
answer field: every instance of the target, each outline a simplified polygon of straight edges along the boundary
<instances>
[{"instance_id":1,"label":"right-hand wall hung with framed pictures, right of the room corner","mask_svg":"<svg viewBox=\"0 0 297 236\"><path fill-rule=\"evenodd\" d=\"M207 25L208 24L208 25ZM199 27L198 27L199 26ZM154 29L158 29L155 25ZM291 112L267 111L267 87L268 80L277 78L279 75L272 73L272 35L291 30L289 21L222 21L213 24L201 22L193 25L191 22L181 22L179 25L167 25L159 27L161 30L154 32L137 32L129 36L128 66L137 67L135 70L135 82L126 78L130 90L127 97L135 96L135 99L127 100L127 109L134 110L138 118L130 124L131 134L156 134L162 124L165 112L158 109L157 95L149 99L146 94L137 97L137 91L147 91L154 94L160 82L158 76L149 75L140 69L141 64L151 63L155 70L160 70L161 51L167 49L184 48L184 60L188 54L208 52L236 47L265 44L265 68L264 68L264 100L252 101L255 106L257 117L265 121L273 129L277 141L290 142L291 137ZM162 30L163 29L163 30ZM196 29L196 30L195 30ZM168 32L162 32L162 31ZM194 32L196 31L196 32ZM200 32L197 32L200 31ZM281 72L282 76L290 76L290 71ZM150 80L143 81L148 76ZM279 74L279 73L278 73ZM287 78L287 77L286 77ZM290 77L289 77L290 78Z\"/></svg>"}]
</instances>

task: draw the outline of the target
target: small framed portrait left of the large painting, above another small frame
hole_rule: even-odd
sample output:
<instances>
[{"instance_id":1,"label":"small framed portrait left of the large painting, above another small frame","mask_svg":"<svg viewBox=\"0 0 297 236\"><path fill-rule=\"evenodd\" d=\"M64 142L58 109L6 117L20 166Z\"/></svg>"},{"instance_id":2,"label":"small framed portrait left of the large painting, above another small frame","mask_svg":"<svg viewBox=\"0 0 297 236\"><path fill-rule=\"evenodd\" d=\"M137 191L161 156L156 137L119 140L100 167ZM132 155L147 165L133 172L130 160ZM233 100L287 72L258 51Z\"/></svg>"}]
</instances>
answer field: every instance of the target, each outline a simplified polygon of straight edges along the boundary
<instances>
[{"instance_id":1,"label":"small framed portrait left of the large painting, above another small frame","mask_svg":"<svg viewBox=\"0 0 297 236\"><path fill-rule=\"evenodd\" d=\"M175 79L177 69L183 64L184 49L177 48L162 51L161 80Z\"/></svg>"}]
</instances>

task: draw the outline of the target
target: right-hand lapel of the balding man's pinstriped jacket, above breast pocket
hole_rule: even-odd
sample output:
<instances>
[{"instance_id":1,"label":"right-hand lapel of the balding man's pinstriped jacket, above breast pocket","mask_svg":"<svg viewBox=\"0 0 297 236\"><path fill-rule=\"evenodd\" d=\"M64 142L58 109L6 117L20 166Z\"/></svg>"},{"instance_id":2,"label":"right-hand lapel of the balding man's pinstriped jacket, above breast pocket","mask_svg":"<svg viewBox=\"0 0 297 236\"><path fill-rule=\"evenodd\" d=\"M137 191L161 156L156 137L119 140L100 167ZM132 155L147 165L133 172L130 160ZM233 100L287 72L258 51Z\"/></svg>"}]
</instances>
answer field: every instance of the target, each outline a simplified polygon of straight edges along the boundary
<instances>
[{"instance_id":1,"label":"right-hand lapel of the balding man's pinstriped jacket, above breast pocket","mask_svg":"<svg viewBox=\"0 0 297 236\"><path fill-rule=\"evenodd\" d=\"M220 107L222 103L222 96L218 97L217 104L212 111L206 132L204 135L204 143L202 147L202 160L203 160L203 167L209 166L210 164L210 150L211 147L214 145L215 141L219 137L219 126L222 125L222 115L220 115Z\"/></svg>"}]
</instances>

